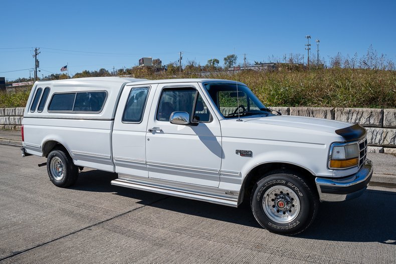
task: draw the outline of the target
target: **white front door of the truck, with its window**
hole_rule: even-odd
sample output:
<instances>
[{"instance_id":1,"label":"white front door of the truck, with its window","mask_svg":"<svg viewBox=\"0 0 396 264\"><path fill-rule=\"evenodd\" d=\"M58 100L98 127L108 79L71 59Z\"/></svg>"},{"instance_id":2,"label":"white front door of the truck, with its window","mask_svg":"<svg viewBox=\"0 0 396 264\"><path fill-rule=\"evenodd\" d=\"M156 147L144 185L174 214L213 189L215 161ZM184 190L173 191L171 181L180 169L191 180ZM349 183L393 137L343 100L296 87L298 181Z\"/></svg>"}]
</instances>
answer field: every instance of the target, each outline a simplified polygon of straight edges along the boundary
<instances>
[{"instance_id":1,"label":"white front door of the truck, with its window","mask_svg":"<svg viewBox=\"0 0 396 264\"><path fill-rule=\"evenodd\" d=\"M220 122L207 106L209 102L197 83L158 85L146 133L149 178L219 187ZM169 116L174 111L194 113L197 122L171 124Z\"/></svg>"}]
</instances>

